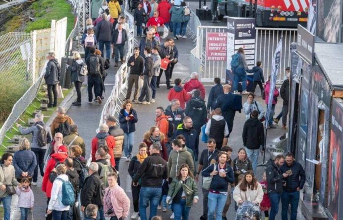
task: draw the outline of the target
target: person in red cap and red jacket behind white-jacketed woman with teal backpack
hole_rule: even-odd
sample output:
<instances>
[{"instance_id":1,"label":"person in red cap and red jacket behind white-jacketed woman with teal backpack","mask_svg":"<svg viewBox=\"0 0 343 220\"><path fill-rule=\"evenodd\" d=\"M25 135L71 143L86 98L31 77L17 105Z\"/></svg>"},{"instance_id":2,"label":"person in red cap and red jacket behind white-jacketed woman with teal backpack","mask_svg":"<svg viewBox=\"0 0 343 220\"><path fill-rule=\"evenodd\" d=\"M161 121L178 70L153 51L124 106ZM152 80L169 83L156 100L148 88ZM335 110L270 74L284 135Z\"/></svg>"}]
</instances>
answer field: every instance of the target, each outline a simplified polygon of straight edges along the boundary
<instances>
[{"instance_id":1,"label":"person in red cap and red jacket behind white-jacketed woman with teal backpack","mask_svg":"<svg viewBox=\"0 0 343 220\"><path fill-rule=\"evenodd\" d=\"M51 197L51 189L52 189L52 182L49 179L50 173L54 171L56 165L60 163L64 163L64 160L68 157L68 149L66 146L61 145L58 147L57 153L51 154L51 158L48 161L44 176L43 176L43 183L42 183L42 191L47 194L49 204L50 197ZM46 218L47 220L52 219L52 215L49 214Z\"/></svg>"}]
</instances>

